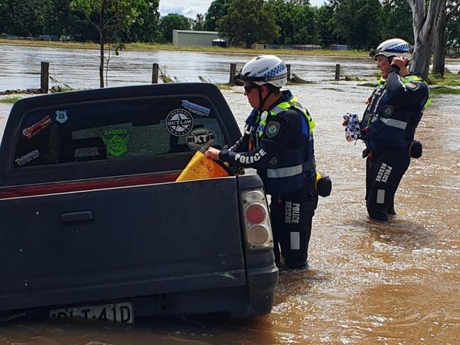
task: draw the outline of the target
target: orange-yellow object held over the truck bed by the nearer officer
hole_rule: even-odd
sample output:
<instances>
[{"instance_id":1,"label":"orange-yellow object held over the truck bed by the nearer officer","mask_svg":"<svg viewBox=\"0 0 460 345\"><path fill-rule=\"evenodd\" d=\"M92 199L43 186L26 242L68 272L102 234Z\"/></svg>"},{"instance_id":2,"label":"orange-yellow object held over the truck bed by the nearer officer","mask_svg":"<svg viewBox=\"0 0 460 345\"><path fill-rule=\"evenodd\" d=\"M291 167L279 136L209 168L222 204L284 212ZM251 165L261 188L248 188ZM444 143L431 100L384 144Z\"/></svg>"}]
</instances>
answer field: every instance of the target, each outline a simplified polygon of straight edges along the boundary
<instances>
[{"instance_id":1,"label":"orange-yellow object held over the truck bed by the nearer officer","mask_svg":"<svg viewBox=\"0 0 460 345\"><path fill-rule=\"evenodd\" d=\"M180 173L176 182L226 176L229 176L229 172L222 168L219 163L206 158L203 153L197 151L185 169Z\"/></svg>"}]
</instances>

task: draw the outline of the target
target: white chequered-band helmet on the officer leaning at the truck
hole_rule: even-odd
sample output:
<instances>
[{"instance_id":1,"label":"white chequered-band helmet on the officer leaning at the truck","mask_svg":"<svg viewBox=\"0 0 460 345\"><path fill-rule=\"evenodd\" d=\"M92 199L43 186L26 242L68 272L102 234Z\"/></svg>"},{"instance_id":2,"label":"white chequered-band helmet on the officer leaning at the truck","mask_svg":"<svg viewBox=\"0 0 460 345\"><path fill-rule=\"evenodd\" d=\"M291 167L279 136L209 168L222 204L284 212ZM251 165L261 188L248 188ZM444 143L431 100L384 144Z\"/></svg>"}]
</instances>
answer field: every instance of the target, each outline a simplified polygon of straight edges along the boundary
<instances>
[{"instance_id":1,"label":"white chequered-band helmet on the officer leaning at the truck","mask_svg":"<svg viewBox=\"0 0 460 345\"><path fill-rule=\"evenodd\" d=\"M260 55L246 62L241 73L235 78L257 85L272 84L281 88L287 84L287 67L282 59L275 55Z\"/></svg>"}]
</instances>

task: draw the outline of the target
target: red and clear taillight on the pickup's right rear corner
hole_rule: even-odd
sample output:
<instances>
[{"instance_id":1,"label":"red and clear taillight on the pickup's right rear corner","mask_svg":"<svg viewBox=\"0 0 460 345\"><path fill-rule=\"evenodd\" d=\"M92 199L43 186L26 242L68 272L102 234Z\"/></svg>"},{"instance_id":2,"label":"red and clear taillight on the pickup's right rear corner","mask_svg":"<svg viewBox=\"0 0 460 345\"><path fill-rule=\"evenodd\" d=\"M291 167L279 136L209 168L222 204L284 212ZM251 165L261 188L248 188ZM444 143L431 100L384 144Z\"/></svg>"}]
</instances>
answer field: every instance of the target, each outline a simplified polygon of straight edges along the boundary
<instances>
[{"instance_id":1,"label":"red and clear taillight on the pickup's right rear corner","mask_svg":"<svg viewBox=\"0 0 460 345\"><path fill-rule=\"evenodd\" d=\"M250 249L273 247L272 229L268 214L267 199L262 189L243 192L243 214L246 240Z\"/></svg>"}]
</instances>

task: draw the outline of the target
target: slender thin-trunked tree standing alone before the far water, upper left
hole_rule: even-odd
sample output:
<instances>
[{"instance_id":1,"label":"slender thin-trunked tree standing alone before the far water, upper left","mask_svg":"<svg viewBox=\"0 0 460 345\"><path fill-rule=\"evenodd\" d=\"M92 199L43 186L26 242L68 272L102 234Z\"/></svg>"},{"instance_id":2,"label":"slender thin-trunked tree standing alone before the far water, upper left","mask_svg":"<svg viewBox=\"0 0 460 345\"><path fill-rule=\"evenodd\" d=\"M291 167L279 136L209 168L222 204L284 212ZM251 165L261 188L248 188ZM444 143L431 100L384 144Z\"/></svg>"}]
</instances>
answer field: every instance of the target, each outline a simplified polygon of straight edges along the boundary
<instances>
[{"instance_id":1,"label":"slender thin-trunked tree standing alone before the far water, upper left","mask_svg":"<svg viewBox=\"0 0 460 345\"><path fill-rule=\"evenodd\" d=\"M72 0L71 8L82 13L96 30L100 46L99 79L104 87L105 45L115 45L115 54L122 48L120 37L130 30L139 17L144 0ZM110 58L110 55L109 55Z\"/></svg>"}]
</instances>

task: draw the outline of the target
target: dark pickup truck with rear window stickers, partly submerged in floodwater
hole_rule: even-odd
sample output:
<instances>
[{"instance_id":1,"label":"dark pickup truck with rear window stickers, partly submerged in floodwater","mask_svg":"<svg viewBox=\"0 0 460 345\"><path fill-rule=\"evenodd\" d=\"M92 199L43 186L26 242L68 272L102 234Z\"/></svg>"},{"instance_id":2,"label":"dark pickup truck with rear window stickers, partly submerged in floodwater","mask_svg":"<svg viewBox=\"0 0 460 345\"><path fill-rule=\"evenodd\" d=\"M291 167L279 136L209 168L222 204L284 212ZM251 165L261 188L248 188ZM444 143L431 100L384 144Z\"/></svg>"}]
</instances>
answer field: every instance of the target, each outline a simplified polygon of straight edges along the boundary
<instances>
[{"instance_id":1,"label":"dark pickup truck with rear window stickers, partly submerged in floodwater","mask_svg":"<svg viewBox=\"0 0 460 345\"><path fill-rule=\"evenodd\" d=\"M270 312L258 175L175 182L195 151L240 134L207 83L19 100L0 146L0 319Z\"/></svg>"}]
</instances>

